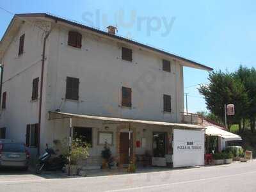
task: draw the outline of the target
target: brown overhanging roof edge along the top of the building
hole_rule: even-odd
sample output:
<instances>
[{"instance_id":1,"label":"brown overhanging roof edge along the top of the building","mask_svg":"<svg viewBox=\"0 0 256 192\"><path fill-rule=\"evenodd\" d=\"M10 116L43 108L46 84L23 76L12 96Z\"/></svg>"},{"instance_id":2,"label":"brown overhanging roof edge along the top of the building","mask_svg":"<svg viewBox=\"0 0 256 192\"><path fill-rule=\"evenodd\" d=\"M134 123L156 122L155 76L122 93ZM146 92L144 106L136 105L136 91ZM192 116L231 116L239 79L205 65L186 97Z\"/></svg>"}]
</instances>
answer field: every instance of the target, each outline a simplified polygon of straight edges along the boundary
<instances>
[{"instance_id":1,"label":"brown overhanging roof edge along the top of the building","mask_svg":"<svg viewBox=\"0 0 256 192\"><path fill-rule=\"evenodd\" d=\"M84 24L80 24L80 23L72 21L72 20L67 20L67 19L63 19L61 17L56 17L56 16L51 15L49 13L23 13L23 14L14 15L14 17L13 17L12 21L10 22L8 28L6 29L6 32L3 35L3 38L0 42L1 44L3 44L4 37L6 36L6 33L8 33L10 27L12 26L13 20L15 20L15 18L24 18L24 17L45 17L47 19L52 19L54 21L65 22L65 23L70 24L72 26L77 26L79 28L88 29L90 31L99 33L100 35L109 36L111 38L115 38L116 40L122 40L124 42L129 43L129 44L138 45L139 47L143 47L145 49L149 49L151 51L158 52L158 53L164 54L166 56L171 56L171 57L173 57L177 60L181 60L181 61L184 61L186 63L191 64L192 66L189 66L189 67L200 68L202 70L207 70L207 71L213 70L211 67L207 67L206 65L203 65L203 64L198 63L196 61L192 61L192 60L189 60L189 59L184 58L182 56L178 56L177 54L173 54L173 53L170 53L170 52L167 52L167 51L163 51L162 49L157 49L156 47L152 47L152 46L149 46L149 45L141 44L140 42L136 42L134 40L125 38L123 36L111 35L106 31L102 31L100 29L92 28L90 26L86 26ZM0 47L1 47L1 44L0 44ZM0 49L0 51L1 51L1 49ZM0 52L0 59L1 59L1 52Z\"/></svg>"}]
</instances>

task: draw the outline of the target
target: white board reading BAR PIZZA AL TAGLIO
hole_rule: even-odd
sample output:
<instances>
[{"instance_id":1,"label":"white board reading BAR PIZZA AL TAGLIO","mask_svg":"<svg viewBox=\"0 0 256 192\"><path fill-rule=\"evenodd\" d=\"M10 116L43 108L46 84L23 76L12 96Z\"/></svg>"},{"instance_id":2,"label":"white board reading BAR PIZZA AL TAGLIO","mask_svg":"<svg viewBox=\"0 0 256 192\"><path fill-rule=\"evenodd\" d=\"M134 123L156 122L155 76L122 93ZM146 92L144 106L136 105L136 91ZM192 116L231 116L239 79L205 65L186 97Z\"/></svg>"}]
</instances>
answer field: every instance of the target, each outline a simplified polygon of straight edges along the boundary
<instances>
[{"instance_id":1,"label":"white board reading BAR PIZZA AL TAGLIO","mask_svg":"<svg viewBox=\"0 0 256 192\"><path fill-rule=\"evenodd\" d=\"M204 129L174 129L173 167L204 165L204 140Z\"/></svg>"}]
</instances>

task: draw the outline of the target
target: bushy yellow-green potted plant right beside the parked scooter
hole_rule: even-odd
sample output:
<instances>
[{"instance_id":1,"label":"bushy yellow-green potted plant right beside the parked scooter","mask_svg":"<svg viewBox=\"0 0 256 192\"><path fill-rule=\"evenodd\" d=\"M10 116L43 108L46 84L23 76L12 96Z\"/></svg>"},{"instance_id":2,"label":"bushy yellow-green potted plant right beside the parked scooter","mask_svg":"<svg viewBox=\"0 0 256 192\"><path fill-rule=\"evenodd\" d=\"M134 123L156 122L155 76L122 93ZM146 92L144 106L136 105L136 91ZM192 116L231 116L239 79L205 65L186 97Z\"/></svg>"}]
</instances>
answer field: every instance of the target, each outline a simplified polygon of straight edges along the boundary
<instances>
[{"instance_id":1,"label":"bushy yellow-green potted plant right beside the parked scooter","mask_svg":"<svg viewBox=\"0 0 256 192\"><path fill-rule=\"evenodd\" d=\"M79 161L81 159L86 159L89 156L88 145L81 139L74 139L72 141L71 151L70 151L70 164L66 165L67 172L70 170L70 175L77 175L79 169ZM69 158L68 154L66 157Z\"/></svg>"}]
</instances>

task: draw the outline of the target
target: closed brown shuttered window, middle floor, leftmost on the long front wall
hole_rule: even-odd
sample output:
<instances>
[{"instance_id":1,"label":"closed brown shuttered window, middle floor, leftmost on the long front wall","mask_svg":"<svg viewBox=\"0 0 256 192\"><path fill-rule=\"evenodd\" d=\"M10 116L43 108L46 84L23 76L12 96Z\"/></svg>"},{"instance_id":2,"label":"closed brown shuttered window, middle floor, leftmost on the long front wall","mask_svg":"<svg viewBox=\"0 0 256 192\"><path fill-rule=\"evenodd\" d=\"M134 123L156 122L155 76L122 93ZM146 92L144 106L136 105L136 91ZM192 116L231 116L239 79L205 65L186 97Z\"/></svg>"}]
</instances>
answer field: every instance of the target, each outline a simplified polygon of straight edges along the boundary
<instances>
[{"instance_id":1,"label":"closed brown shuttered window, middle floor, leftmost on the long front wall","mask_svg":"<svg viewBox=\"0 0 256 192\"><path fill-rule=\"evenodd\" d=\"M79 79L67 77L66 99L78 100L79 96Z\"/></svg>"}]
</instances>

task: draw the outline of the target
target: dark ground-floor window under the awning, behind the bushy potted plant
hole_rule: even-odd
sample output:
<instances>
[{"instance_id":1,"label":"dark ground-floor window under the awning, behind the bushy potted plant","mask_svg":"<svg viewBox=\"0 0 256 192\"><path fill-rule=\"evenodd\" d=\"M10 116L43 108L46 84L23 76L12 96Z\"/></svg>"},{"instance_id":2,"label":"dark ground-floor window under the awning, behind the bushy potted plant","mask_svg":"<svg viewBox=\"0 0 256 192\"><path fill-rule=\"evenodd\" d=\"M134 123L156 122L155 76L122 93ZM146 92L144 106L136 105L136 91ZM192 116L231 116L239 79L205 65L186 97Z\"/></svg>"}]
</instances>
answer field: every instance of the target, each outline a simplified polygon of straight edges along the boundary
<instances>
[{"instance_id":1,"label":"dark ground-floor window under the awning, behind the bushy potted plant","mask_svg":"<svg viewBox=\"0 0 256 192\"><path fill-rule=\"evenodd\" d=\"M73 138L81 139L86 144L92 147L92 128L90 127L74 127L73 129Z\"/></svg>"}]
</instances>

